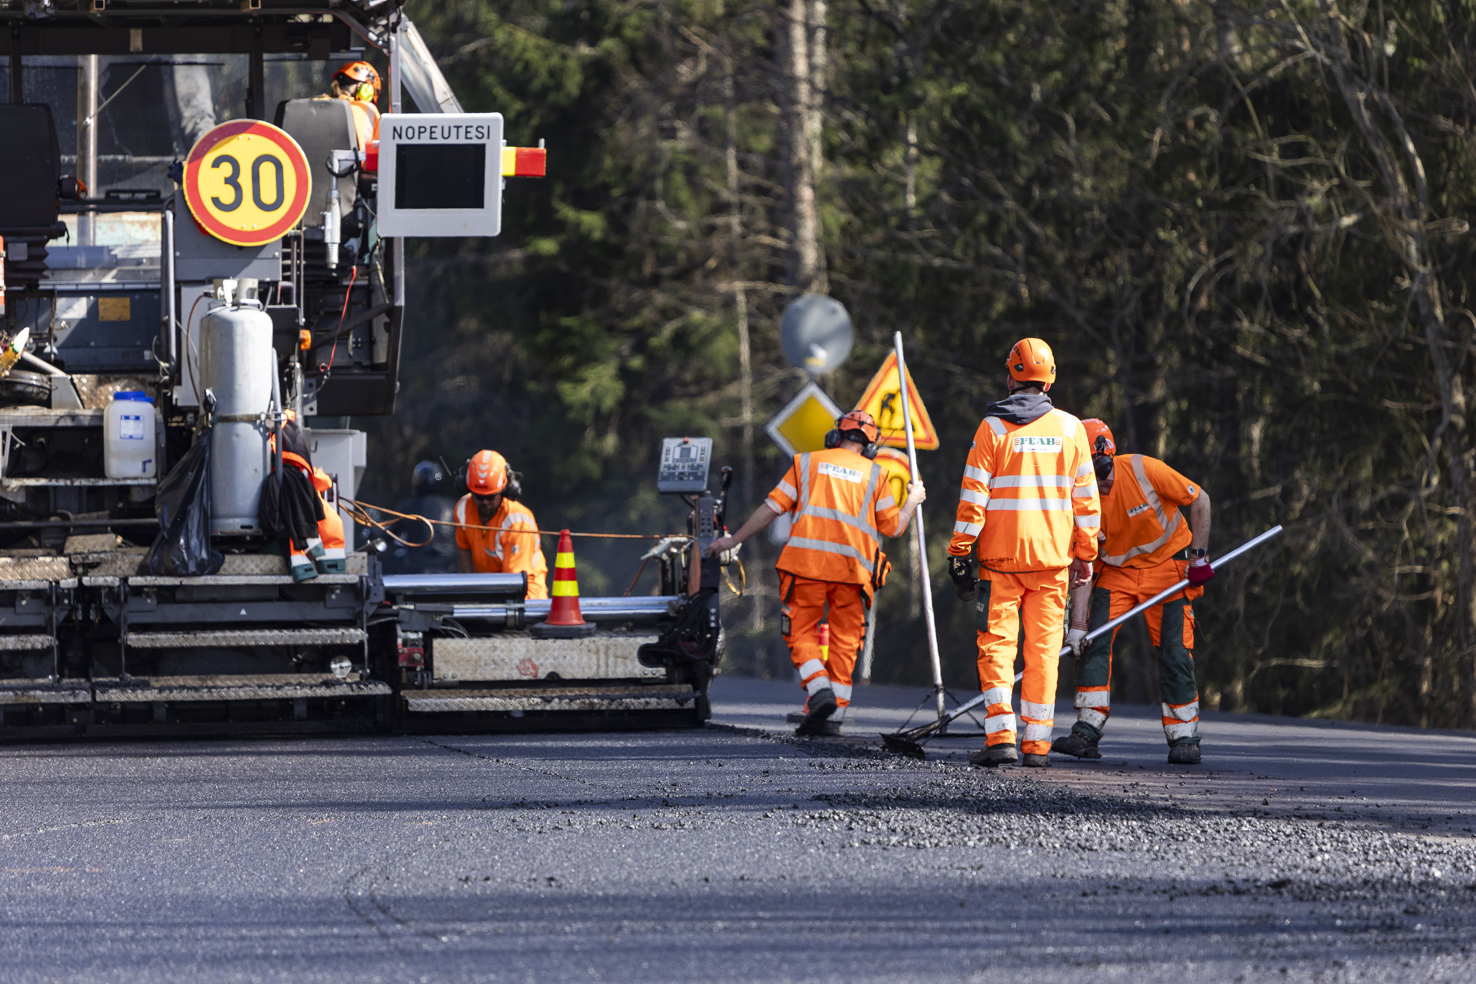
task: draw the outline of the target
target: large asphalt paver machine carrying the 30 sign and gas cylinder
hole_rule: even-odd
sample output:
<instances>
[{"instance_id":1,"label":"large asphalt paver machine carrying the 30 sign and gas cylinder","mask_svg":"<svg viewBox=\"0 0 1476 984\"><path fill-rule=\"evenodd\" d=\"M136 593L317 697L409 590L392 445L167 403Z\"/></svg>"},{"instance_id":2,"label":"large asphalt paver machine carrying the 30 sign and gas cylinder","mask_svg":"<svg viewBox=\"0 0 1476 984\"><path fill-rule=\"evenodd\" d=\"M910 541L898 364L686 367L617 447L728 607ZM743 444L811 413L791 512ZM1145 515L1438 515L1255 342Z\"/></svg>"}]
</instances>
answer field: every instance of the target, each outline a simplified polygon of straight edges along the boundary
<instances>
[{"instance_id":1,"label":"large asphalt paver machine carrying the 30 sign and gas cylinder","mask_svg":"<svg viewBox=\"0 0 1476 984\"><path fill-rule=\"evenodd\" d=\"M660 595L582 599L577 637L540 637L521 574L384 575L347 507L313 577L261 528L288 420L394 412L404 238L496 235L503 177L543 171L462 112L400 6L0 1L0 741L707 717L710 441L664 450L691 510ZM375 139L320 97L366 58ZM304 440L351 500L365 435ZM161 569L161 481L201 443L218 564Z\"/></svg>"}]
</instances>

